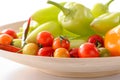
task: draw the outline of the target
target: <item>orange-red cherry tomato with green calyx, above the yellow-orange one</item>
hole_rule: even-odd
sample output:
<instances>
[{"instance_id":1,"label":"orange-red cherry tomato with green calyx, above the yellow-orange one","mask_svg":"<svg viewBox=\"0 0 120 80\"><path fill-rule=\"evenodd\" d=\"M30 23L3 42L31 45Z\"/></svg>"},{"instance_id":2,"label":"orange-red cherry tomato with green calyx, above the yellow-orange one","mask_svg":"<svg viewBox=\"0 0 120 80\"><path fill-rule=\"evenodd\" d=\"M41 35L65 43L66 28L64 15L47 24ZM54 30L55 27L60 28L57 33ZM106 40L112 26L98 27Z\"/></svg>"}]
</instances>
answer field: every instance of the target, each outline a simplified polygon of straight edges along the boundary
<instances>
[{"instance_id":1,"label":"orange-red cherry tomato with green calyx, above the yellow-orange one","mask_svg":"<svg viewBox=\"0 0 120 80\"><path fill-rule=\"evenodd\" d=\"M57 37L56 39L54 39L52 47L54 50L56 50L57 48L65 48L69 50L70 42L67 38Z\"/></svg>"}]
</instances>

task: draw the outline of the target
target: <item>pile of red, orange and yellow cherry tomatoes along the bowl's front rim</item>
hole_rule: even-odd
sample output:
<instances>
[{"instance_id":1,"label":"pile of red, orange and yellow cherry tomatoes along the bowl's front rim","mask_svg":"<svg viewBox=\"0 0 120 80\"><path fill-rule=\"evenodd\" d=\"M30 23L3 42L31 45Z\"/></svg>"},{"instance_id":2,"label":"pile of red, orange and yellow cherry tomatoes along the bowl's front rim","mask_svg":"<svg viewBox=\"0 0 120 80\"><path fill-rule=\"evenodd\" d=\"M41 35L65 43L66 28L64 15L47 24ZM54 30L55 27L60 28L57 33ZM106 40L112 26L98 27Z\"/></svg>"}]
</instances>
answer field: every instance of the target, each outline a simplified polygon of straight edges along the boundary
<instances>
[{"instance_id":1,"label":"pile of red, orange and yellow cherry tomatoes along the bowl's front rim","mask_svg":"<svg viewBox=\"0 0 120 80\"><path fill-rule=\"evenodd\" d=\"M36 37L36 43L26 43L24 47L12 45L17 39L17 33L12 29L5 29L0 33L0 49L29 54L36 56L58 57L58 58L93 58L110 56L109 51L104 48L104 39L99 35L92 35L88 41L78 48L70 48L70 41L59 36L54 38L48 31L40 32Z\"/></svg>"}]
</instances>

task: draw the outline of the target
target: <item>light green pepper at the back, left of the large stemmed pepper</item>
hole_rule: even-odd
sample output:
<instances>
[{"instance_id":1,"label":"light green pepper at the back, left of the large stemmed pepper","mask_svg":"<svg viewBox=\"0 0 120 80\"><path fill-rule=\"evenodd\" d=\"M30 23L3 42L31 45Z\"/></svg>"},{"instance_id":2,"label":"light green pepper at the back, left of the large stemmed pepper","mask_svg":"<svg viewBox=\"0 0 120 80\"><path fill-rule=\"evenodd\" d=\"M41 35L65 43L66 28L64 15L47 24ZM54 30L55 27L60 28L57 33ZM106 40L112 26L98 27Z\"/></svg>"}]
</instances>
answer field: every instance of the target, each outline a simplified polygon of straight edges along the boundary
<instances>
[{"instance_id":1,"label":"light green pepper at the back, left of the large stemmed pepper","mask_svg":"<svg viewBox=\"0 0 120 80\"><path fill-rule=\"evenodd\" d=\"M61 2L60 4L64 5L65 3L66 2ZM44 22L51 20L57 21L59 12L60 9L58 9L56 6L49 6L36 11L32 14L31 18L39 24L43 24Z\"/></svg>"}]
</instances>

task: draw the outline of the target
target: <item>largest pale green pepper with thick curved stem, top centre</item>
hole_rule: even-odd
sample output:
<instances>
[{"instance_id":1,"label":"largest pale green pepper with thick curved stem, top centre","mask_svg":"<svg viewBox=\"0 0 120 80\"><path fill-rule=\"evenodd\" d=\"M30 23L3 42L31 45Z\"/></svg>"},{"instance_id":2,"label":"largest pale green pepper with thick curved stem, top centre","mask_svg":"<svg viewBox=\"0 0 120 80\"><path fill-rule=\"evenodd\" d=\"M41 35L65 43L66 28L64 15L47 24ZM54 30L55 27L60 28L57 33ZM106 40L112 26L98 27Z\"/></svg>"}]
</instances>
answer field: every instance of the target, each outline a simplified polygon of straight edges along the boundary
<instances>
[{"instance_id":1,"label":"largest pale green pepper with thick curved stem, top centre","mask_svg":"<svg viewBox=\"0 0 120 80\"><path fill-rule=\"evenodd\" d=\"M93 15L87 7L76 2L66 3L64 6L50 0L47 3L62 10L58 14L58 21L66 30L81 36L89 36L94 33L89 25L93 20Z\"/></svg>"}]
</instances>

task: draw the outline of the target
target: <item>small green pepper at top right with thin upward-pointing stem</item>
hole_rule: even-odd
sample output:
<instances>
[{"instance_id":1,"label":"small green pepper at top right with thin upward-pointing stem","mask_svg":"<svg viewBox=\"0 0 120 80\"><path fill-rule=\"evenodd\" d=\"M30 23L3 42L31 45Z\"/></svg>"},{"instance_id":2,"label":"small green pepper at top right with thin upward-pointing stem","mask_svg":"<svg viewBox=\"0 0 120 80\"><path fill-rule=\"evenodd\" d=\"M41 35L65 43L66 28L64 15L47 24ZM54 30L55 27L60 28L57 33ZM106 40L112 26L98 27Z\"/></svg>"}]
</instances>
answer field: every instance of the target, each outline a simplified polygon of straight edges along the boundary
<instances>
[{"instance_id":1,"label":"small green pepper at top right with thin upward-pointing stem","mask_svg":"<svg viewBox=\"0 0 120 80\"><path fill-rule=\"evenodd\" d=\"M109 0L106 4L103 3L97 3L93 6L93 9L91 10L93 16L96 18L104 13L109 12L109 5L113 2L114 0Z\"/></svg>"}]
</instances>

